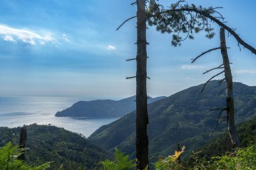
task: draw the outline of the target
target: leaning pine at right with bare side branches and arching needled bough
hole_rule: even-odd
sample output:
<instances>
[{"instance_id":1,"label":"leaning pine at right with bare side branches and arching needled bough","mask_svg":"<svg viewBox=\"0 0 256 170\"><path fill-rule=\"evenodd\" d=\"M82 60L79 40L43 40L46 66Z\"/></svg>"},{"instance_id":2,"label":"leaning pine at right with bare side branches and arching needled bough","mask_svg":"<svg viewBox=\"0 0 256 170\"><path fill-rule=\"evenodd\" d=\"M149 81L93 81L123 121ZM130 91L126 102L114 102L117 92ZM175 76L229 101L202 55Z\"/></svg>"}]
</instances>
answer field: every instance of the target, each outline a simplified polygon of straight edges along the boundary
<instances>
[{"instance_id":1,"label":"leaning pine at right with bare side branches and arching needled bough","mask_svg":"<svg viewBox=\"0 0 256 170\"><path fill-rule=\"evenodd\" d=\"M218 48L213 48L211 50L207 50L203 52L199 56L193 59L192 62L197 60L203 54L207 52L211 52L212 50L221 49L222 51L222 59L223 64L214 69L224 69L224 71L214 75L210 78L206 83L209 83L211 79L214 77L225 73L225 78L227 87L226 87L226 103L227 107L218 109L221 110L220 114L223 111L227 111L227 123L228 123L228 132L230 135L230 140L233 146L238 146L240 144L238 140L238 136L235 131L234 126L234 99L232 96L232 74L230 70L230 65L228 61L228 53L226 50L226 41L224 37L224 30L228 31L228 33L237 40L238 46L244 46L253 54L256 54L256 49L253 46L247 44L236 32L234 29L229 28L224 24L224 17L216 11L220 7L208 7L204 8L201 6L196 7L195 5L188 5L185 0L179 0L177 3L173 3L170 5L169 9L164 9L163 5L156 3L155 0L150 1L150 9L148 10L148 22L150 25L156 26L156 29L162 33L172 33L172 45L177 46L180 45L183 40L187 38L194 38L193 33L205 31L207 32L206 37L212 38L215 35L214 28L212 28L211 22L218 24L221 27L220 38L221 38L221 46ZM217 14L218 16L213 16L213 14ZM186 34L185 38L182 38L180 34ZM223 67L222 67L223 66ZM210 71L214 70L211 69ZM208 72L208 71L207 71ZM222 81L224 81L222 79ZM203 86L203 89L205 87ZM202 89L202 91L203 91ZM202 92L201 91L201 92Z\"/></svg>"}]
</instances>

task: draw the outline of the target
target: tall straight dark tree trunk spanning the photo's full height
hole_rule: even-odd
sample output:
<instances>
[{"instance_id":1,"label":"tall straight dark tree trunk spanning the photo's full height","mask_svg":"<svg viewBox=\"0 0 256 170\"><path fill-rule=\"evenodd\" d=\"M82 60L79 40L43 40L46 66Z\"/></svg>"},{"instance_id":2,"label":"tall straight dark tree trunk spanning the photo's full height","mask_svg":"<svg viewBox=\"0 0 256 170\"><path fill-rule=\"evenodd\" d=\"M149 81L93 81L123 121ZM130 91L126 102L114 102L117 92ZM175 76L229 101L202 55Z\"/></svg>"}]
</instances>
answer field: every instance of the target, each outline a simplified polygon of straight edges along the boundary
<instances>
[{"instance_id":1,"label":"tall straight dark tree trunk spanning the photo's full height","mask_svg":"<svg viewBox=\"0 0 256 170\"><path fill-rule=\"evenodd\" d=\"M137 73L136 73L136 163L148 166L146 0L137 0Z\"/></svg>"}]
</instances>

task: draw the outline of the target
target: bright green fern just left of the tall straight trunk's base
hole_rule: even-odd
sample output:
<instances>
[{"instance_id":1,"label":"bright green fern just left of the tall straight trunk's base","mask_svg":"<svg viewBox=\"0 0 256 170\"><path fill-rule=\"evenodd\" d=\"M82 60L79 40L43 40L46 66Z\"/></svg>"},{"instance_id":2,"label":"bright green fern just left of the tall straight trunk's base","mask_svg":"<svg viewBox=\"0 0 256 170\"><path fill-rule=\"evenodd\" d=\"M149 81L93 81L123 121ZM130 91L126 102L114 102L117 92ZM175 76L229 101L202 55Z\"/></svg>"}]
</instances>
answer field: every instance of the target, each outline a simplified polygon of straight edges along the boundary
<instances>
[{"instance_id":1,"label":"bright green fern just left of the tall straight trunk's base","mask_svg":"<svg viewBox=\"0 0 256 170\"><path fill-rule=\"evenodd\" d=\"M129 160L129 155L121 153L115 148L115 161L101 161L101 170L130 170L136 167L135 160Z\"/></svg>"}]
</instances>

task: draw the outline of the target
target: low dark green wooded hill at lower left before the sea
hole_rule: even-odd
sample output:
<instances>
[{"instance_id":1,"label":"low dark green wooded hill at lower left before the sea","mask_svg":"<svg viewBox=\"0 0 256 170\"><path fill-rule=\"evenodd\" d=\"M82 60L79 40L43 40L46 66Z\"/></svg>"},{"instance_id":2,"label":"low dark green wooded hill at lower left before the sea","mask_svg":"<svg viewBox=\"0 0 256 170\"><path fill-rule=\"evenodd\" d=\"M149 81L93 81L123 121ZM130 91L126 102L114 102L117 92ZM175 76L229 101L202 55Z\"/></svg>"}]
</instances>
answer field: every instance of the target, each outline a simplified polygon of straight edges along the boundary
<instances>
[{"instance_id":1,"label":"low dark green wooded hill at lower left before the sea","mask_svg":"<svg viewBox=\"0 0 256 170\"><path fill-rule=\"evenodd\" d=\"M102 148L91 144L86 138L55 126L26 126L26 161L39 165L47 161L51 169L92 169L98 162L110 157ZM0 128L0 146L11 141L18 144L20 128Z\"/></svg>"}]
</instances>

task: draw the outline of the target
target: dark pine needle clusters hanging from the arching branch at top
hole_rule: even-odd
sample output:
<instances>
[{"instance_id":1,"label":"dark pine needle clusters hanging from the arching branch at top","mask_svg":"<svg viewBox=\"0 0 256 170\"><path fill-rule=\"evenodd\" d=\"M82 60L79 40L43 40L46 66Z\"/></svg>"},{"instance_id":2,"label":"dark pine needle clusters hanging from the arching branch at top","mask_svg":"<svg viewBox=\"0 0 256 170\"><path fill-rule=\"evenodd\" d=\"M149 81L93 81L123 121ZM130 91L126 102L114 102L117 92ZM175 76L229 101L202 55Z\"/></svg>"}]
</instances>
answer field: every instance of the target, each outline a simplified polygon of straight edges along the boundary
<instances>
[{"instance_id":1,"label":"dark pine needle clusters hanging from the arching branch at top","mask_svg":"<svg viewBox=\"0 0 256 170\"><path fill-rule=\"evenodd\" d=\"M183 40L187 38L193 39L194 33L206 32L207 38L213 38L214 28L211 25L211 20L201 15L201 13L195 13L195 11L201 11L207 15L218 15L216 18L224 19L222 15L216 11L219 7L198 7L194 4L189 5L187 1L177 1L172 3L169 9L164 9L163 5L156 3L158 0L151 0L148 9L148 24L150 26L156 26L156 30L161 33L172 34L172 45L181 45ZM181 34L185 34L182 37Z\"/></svg>"}]
</instances>

